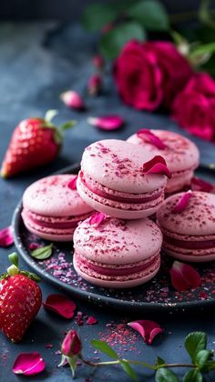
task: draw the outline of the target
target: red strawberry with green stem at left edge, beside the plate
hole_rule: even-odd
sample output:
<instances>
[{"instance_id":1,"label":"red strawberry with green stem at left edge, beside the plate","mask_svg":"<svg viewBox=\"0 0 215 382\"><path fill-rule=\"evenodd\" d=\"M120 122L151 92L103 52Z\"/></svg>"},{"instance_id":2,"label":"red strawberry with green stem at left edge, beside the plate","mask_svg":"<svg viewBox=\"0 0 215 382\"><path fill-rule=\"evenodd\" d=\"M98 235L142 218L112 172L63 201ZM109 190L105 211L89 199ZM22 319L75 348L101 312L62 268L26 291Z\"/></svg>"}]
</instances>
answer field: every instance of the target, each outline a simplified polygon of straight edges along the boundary
<instances>
[{"instance_id":1,"label":"red strawberry with green stem at left edge, beside the plate","mask_svg":"<svg viewBox=\"0 0 215 382\"><path fill-rule=\"evenodd\" d=\"M9 255L13 263L0 280L0 329L12 342L20 341L42 304L39 278L19 271L16 253ZM30 278L31 277L31 278Z\"/></svg>"}]
</instances>

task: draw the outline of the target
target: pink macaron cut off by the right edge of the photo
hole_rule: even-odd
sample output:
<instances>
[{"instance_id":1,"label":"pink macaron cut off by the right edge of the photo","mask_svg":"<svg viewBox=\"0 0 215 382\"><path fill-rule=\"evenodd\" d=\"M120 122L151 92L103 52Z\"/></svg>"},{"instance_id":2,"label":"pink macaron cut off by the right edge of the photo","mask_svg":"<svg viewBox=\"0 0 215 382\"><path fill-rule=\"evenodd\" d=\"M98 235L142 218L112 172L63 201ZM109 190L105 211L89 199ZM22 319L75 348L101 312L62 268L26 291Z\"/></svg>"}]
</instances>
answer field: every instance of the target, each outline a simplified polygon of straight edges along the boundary
<instances>
[{"instance_id":1,"label":"pink macaron cut off by the right edge of the photo","mask_svg":"<svg viewBox=\"0 0 215 382\"><path fill-rule=\"evenodd\" d=\"M191 262L215 260L215 195L189 191L169 196L157 221L169 256Z\"/></svg>"}]
</instances>

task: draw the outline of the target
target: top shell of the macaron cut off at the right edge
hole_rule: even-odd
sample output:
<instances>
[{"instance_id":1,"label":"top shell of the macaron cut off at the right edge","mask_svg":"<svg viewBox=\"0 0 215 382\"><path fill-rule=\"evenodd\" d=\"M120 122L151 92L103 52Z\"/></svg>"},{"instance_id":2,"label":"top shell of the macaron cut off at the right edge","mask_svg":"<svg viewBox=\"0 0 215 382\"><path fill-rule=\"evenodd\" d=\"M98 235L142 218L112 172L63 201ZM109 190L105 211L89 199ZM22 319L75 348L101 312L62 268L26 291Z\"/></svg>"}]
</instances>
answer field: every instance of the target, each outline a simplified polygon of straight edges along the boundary
<instances>
[{"instance_id":1,"label":"top shell of the macaron cut off at the right edge","mask_svg":"<svg viewBox=\"0 0 215 382\"><path fill-rule=\"evenodd\" d=\"M192 191L188 206L174 213L174 206L184 193L169 196L159 207L159 225L181 235L215 235L215 195Z\"/></svg>"}]
</instances>

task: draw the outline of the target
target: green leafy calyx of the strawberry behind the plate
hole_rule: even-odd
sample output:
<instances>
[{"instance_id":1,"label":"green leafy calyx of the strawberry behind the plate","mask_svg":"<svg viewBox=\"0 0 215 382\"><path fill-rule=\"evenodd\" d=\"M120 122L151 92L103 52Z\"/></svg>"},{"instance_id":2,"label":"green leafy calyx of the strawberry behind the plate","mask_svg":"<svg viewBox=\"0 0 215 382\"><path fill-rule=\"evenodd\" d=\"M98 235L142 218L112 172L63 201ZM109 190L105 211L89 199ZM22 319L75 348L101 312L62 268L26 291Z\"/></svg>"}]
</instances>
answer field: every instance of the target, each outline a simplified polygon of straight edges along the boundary
<instances>
[{"instance_id":1,"label":"green leafy calyx of the strawberry behind the plate","mask_svg":"<svg viewBox=\"0 0 215 382\"><path fill-rule=\"evenodd\" d=\"M58 114L57 110L47 110L46 115L44 118L45 125L41 126L42 128L52 128L54 130L54 139L57 145L61 146L64 140L64 132L65 130L68 130L69 128L76 126L77 122L74 120L70 120L65 122L59 127L56 127L52 120L53 118Z\"/></svg>"}]
</instances>

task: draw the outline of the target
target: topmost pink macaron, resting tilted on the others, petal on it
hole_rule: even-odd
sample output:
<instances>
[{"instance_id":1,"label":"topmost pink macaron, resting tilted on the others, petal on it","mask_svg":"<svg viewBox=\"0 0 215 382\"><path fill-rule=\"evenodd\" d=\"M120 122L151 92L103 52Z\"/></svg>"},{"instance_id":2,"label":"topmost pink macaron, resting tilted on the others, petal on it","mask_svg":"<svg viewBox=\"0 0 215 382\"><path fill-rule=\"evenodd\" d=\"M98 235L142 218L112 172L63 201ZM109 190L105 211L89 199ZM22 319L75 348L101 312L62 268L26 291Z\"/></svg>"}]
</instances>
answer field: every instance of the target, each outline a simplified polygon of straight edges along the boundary
<instances>
[{"instance_id":1,"label":"topmost pink macaron, resting tilted on the others, petal on it","mask_svg":"<svg viewBox=\"0 0 215 382\"><path fill-rule=\"evenodd\" d=\"M164 173L168 171L166 164L154 163L154 159L165 162L125 141L96 142L82 156L77 190L89 206L106 215L124 219L150 216L164 199Z\"/></svg>"}]
</instances>

